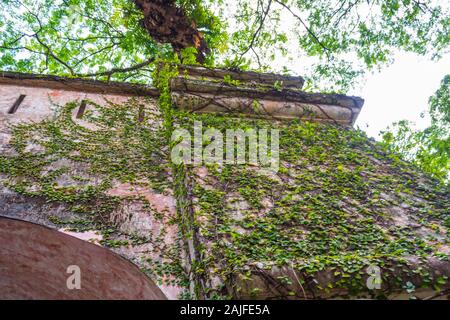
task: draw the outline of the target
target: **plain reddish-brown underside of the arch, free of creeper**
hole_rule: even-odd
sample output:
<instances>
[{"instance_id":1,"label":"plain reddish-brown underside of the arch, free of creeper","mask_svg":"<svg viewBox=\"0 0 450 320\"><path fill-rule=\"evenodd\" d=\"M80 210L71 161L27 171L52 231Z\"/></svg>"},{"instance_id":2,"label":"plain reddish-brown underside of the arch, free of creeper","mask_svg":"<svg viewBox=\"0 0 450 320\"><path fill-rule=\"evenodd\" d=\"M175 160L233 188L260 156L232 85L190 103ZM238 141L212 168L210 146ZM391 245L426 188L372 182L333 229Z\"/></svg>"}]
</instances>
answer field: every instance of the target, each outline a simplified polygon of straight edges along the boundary
<instances>
[{"instance_id":1,"label":"plain reddish-brown underside of the arch, free of creeper","mask_svg":"<svg viewBox=\"0 0 450 320\"><path fill-rule=\"evenodd\" d=\"M68 267L73 265L80 269L80 289L67 286L74 274ZM0 217L0 299L166 296L137 266L106 248L39 224Z\"/></svg>"}]
</instances>

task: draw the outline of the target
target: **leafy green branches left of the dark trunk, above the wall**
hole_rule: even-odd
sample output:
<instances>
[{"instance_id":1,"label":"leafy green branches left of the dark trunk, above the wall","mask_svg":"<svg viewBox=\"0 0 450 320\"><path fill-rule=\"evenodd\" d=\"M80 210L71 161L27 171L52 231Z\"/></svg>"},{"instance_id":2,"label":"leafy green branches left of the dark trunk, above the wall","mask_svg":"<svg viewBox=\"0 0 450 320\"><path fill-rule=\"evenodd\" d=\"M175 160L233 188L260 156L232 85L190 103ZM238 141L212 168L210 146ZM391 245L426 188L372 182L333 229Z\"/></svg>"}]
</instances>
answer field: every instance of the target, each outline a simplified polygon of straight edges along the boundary
<instances>
[{"instance_id":1,"label":"leafy green branches left of the dark trunk, above the wall","mask_svg":"<svg viewBox=\"0 0 450 320\"><path fill-rule=\"evenodd\" d=\"M145 62L168 50L147 36L128 0L6 0L0 10L2 70L127 80L135 70L119 71L142 64L145 76Z\"/></svg>"}]
</instances>

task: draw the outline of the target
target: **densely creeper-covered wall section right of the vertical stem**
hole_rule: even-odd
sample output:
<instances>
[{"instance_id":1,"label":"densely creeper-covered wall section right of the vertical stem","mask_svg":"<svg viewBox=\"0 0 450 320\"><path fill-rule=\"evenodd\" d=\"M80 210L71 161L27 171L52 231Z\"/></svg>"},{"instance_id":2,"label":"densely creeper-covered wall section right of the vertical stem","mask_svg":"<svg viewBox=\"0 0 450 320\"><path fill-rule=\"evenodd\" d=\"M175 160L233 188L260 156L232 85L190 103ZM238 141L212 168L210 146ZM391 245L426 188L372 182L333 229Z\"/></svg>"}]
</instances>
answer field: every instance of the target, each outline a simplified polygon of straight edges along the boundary
<instances>
[{"instance_id":1,"label":"densely creeper-covered wall section right of the vertical stem","mask_svg":"<svg viewBox=\"0 0 450 320\"><path fill-rule=\"evenodd\" d=\"M448 288L448 188L354 129L211 115L180 123L192 118L280 130L276 174L251 165L189 170L196 272L209 297L407 298ZM380 290L367 288L369 266L381 269Z\"/></svg>"}]
</instances>

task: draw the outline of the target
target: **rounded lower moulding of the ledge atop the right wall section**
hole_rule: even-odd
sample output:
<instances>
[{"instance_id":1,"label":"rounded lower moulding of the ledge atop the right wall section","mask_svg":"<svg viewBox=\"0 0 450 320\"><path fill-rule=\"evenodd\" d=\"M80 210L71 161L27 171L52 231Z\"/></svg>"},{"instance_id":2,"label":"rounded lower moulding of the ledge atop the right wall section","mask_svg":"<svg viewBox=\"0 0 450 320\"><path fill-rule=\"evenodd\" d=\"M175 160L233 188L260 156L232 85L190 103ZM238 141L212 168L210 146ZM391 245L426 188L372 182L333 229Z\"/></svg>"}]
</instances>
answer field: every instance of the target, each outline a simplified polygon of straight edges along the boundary
<instances>
[{"instance_id":1,"label":"rounded lower moulding of the ledge atop the right wall section","mask_svg":"<svg viewBox=\"0 0 450 320\"><path fill-rule=\"evenodd\" d=\"M193 112L237 112L274 119L302 119L351 126L364 100L341 94L232 86L180 76L171 81L176 106Z\"/></svg>"}]
</instances>

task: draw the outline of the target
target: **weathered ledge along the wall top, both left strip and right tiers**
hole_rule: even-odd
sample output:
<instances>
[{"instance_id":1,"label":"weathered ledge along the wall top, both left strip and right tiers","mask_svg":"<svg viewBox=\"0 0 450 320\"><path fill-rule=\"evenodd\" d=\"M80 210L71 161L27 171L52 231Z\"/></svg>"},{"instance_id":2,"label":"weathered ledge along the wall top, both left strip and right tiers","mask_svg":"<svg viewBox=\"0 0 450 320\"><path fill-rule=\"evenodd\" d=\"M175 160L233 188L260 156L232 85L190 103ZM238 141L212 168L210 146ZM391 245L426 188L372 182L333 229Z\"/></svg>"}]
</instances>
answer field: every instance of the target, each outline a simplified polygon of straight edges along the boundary
<instances>
[{"instance_id":1,"label":"weathered ledge along the wall top, both left strip and right tiers","mask_svg":"<svg viewBox=\"0 0 450 320\"><path fill-rule=\"evenodd\" d=\"M175 106L193 112L238 112L250 117L302 119L351 126L364 104L359 97L303 92L300 90L304 83L301 77L197 66L180 66L179 69L180 76L170 83L172 98ZM227 75L239 81L236 86L224 81ZM277 82L281 86L276 85ZM141 84L15 72L0 72L0 85L129 97L159 96L156 88Z\"/></svg>"}]
</instances>

